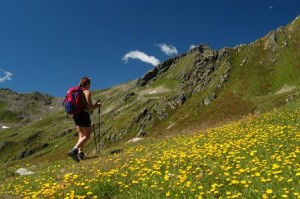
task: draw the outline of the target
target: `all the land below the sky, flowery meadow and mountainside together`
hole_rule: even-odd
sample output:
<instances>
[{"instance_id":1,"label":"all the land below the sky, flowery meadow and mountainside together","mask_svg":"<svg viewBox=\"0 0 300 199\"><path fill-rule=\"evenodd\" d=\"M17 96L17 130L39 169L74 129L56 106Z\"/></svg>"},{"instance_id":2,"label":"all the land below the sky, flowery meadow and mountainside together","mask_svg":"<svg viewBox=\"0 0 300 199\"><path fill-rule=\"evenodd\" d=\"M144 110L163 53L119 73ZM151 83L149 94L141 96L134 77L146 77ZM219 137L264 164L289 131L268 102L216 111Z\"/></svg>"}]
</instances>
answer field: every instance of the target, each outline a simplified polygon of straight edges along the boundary
<instances>
[{"instance_id":1,"label":"all the land below the sky, flowery meadow and mountainside together","mask_svg":"<svg viewBox=\"0 0 300 199\"><path fill-rule=\"evenodd\" d=\"M79 163L63 99L0 89L0 198L300 198L299 55L297 17L93 90L98 139Z\"/></svg>"}]
</instances>

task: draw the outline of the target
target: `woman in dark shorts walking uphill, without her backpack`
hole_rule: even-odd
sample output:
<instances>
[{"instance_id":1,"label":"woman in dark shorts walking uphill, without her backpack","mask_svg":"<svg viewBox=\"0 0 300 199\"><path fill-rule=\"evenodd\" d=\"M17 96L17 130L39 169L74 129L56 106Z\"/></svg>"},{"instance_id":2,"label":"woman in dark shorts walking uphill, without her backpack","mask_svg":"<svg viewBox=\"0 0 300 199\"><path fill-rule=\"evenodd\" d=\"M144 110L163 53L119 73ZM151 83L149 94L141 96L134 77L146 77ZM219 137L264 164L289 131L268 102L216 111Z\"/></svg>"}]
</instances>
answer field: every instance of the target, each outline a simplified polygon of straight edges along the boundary
<instances>
[{"instance_id":1,"label":"woman in dark shorts walking uphill, without her backpack","mask_svg":"<svg viewBox=\"0 0 300 199\"><path fill-rule=\"evenodd\" d=\"M74 148L68 152L68 155L77 162L84 159L83 145L91 136L92 127L90 114L93 113L93 109L101 106L99 100L95 104L92 104L91 92L89 90L90 86L91 80L88 77L83 77L80 80L79 87L83 90L83 110L73 115L79 138Z\"/></svg>"}]
</instances>

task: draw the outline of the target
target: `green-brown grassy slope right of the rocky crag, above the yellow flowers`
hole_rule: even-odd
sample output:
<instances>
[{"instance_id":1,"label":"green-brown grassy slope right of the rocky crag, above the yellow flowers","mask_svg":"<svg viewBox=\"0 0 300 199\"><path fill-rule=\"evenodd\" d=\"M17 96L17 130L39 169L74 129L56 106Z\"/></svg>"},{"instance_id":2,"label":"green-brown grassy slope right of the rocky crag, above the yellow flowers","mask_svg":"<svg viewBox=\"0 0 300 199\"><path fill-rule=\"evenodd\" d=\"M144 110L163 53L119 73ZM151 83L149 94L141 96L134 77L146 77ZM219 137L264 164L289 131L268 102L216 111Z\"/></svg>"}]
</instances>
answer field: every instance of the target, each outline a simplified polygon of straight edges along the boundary
<instances>
[{"instance_id":1,"label":"green-brown grassy slope right of the rocky crag, above the yellow flowers","mask_svg":"<svg viewBox=\"0 0 300 199\"><path fill-rule=\"evenodd\" d=\"M294 30L299 28L299 22L300 20L293 24ZM290 36L292 39L288 39ZM278 47L275 52L273 49L265 49L269 36L251 45L231 50L231 71L227 83L222 88L215 89L218 83L215 80L209 88L194 95L155 130L165 131L171 124L175 125L170 131L177 133L187 128L205 128L280 107L293 95L299 98L299 31L290 32L290 28L286 28L277 33L277 38ZM284 41L287 41L288 46L283 46ZM246 63L241 65L243 60ZM220 71L222 67L215 76L222 74ZM277 93L284 87L293 89ZM217 99L210 106L203 106L202 101L212 92L217 93Z\"/></svg>"}]
</instances>

